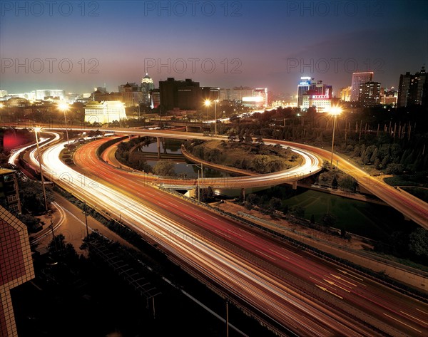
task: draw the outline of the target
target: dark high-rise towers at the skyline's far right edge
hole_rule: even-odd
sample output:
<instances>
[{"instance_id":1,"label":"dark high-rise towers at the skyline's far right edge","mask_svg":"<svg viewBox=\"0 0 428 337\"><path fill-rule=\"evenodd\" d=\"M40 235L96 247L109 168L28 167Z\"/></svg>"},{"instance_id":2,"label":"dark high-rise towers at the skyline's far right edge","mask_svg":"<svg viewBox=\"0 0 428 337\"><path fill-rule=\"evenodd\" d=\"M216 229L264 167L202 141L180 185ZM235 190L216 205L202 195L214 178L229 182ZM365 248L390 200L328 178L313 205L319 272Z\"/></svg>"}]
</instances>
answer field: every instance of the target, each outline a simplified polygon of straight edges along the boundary
<instances>
[{"instance_id":1,"label":"dark high-rise towers at the skyline's far right edge","mask_svg":"<svg viewBox=\"0 0 428 337\"><path fill-rule=\"evenodd\" d=\"M399 76L397 106L427 105L428 78L425 67L412 75L407 72Z\"/></svg>"}]
</instances>

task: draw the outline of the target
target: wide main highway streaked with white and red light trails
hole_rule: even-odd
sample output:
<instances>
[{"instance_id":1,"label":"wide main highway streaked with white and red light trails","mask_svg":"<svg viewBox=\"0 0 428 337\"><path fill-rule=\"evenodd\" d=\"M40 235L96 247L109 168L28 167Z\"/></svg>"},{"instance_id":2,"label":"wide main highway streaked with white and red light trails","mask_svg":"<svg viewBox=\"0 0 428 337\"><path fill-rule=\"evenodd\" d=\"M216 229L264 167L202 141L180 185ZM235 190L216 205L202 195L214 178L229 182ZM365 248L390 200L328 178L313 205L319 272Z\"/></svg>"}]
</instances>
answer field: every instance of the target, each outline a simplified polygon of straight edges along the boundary
<instances>
[{"instance_id":1,"label":"wide main highway streaked with white and red light trails","mask_svg":"<svg viewBox=\"0 0 428 337\"><path fill-rule=\"evenodd\" d=\"M428 334L426 304L112 169L95 155L101 142L76 152L81 172L58 159L63 144L49 147L46 176L150 237L284 336Z\"/></svg>"}]
</instances>

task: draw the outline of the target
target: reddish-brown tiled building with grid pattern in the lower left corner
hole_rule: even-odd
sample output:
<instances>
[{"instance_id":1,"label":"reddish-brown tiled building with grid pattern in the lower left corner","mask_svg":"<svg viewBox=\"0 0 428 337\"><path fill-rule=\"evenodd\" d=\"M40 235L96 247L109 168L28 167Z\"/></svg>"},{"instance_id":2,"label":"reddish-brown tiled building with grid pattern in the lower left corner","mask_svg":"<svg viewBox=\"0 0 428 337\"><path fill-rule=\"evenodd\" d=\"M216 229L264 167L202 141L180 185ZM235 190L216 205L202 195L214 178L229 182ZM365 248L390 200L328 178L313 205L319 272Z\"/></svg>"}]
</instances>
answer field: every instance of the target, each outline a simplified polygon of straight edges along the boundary
<instances>
[{"instance_id":1,"label":"reddish-brown tiled building with grid pattern in the lower left corner","mask_svg":"<svg viewBox=\"0 0 428 337\"><path fill-rule=\"evenodd\" d=\"M16 337L11 289L34 279L27 227L0 206L0 337Z\"/></svg>"}]
</instances>

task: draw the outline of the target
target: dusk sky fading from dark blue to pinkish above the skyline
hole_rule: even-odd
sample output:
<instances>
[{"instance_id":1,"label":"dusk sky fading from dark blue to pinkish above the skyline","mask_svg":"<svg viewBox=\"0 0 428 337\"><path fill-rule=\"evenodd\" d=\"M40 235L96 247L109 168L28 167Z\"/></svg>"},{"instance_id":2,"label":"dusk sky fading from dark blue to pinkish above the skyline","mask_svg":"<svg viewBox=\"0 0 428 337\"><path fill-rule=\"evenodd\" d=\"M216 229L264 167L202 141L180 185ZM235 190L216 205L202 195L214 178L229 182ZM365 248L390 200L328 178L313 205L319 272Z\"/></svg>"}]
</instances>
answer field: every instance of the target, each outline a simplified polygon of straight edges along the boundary
<instances>
[{"instance_id":1,"label":"dusk sky fading from dark blue to pinkish above the skyline","mask_svg":"<svg viewBox=\"0 0 428 337\"><path fill-rule=\"evenodd\" d=\"M0 1L0 88L117 91L192 78L295 94L353 71L397 88L427 66L428 1Z\"/></svg>"}]
</instances>

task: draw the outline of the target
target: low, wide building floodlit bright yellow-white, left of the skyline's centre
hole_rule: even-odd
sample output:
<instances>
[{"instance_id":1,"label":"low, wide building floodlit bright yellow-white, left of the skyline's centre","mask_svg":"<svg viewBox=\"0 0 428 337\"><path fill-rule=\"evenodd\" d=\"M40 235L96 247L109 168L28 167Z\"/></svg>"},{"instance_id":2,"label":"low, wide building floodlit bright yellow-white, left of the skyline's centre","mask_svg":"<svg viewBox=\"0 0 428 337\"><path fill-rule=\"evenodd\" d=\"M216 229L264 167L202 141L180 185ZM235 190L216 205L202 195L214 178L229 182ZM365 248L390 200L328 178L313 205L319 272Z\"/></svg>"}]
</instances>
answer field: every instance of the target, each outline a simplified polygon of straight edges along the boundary
<instances>
[{"instance_id":1,"label":"low, wide building floodlit bright yellow-white, left of the skyline's centre","mask_svg":"<svg viewBox=\"0 0 428 337\"><path fill-rule=\"evenodd\" d=\"M85 122L112 123L126 119L125 107L120 100L90 101L85 106Z\"/></svg>"}]
</instances>

